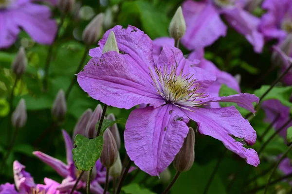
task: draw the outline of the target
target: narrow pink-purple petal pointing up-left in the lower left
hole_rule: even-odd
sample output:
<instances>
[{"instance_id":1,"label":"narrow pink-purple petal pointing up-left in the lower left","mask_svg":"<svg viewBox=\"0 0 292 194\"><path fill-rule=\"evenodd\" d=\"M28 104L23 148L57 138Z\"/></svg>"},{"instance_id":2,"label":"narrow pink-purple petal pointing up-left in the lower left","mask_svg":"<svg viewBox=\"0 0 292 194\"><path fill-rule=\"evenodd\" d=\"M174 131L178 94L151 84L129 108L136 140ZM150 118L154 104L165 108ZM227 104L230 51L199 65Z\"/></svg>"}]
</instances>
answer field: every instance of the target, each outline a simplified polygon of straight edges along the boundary
<instances>
[{"instance_id":1,"label":"narrow pink-purple petal pointing up-left in the lower left","mask_svg":"<svg viewBox=\"0 0 292 194\"><path fill-rule=\"evenodd\" d=\"M60 176L66 177L70 175L69 167L64 164L61 160L55 159L47 154L42 152L36 151L33 154L44 163L51 166Z\"/></svg>"}]
</instances>

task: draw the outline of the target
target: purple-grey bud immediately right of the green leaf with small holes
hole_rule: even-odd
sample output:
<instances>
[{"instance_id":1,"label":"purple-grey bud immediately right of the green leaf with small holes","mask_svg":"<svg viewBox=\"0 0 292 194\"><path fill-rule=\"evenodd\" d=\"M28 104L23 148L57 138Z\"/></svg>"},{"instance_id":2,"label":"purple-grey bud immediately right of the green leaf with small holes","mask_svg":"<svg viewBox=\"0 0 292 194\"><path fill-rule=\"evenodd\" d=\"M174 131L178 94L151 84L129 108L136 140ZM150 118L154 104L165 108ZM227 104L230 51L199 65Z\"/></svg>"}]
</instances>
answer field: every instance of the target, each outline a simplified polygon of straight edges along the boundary
<instances>
[{"instance_id":1,"label":"purple-grey bud immediately right of the green leaf with small holes","mask_svg":"<svg viewBox=\"0 0 292 194\"><path fill-rule=\"evenodd\" d=\"M104 145L103 145L102 152L100 155L100 162L105 167L110 168L117 160L119 151L117 148L117 144L109 129L107 129L104 132L103 138L104 138Z\"/></svg>"}]
</instances>

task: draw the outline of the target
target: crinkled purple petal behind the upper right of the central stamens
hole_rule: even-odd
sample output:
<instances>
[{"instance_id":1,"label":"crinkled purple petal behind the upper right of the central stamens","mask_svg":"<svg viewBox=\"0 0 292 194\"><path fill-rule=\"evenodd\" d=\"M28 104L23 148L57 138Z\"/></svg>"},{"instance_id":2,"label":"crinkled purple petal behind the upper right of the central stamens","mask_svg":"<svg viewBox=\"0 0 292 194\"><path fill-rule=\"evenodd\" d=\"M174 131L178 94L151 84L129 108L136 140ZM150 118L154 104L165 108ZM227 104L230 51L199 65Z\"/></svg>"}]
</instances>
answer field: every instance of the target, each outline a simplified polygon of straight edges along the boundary
<instances>
[{"instance_id":1,"label":"crinkled purple petal behind the upper right of the central stamens","mask_svg":"<svg viewBox=\"0 0 292 194\"><path fill-rule=\"evenodd\" d=\"M195 83L200 84L200 90L203 91L215 82L216 76L201 68L194 67L194 65L198 64L198 60L190 61L185 59L181 50L174 46L166 45L158 58L157 68L163 70L164 66L169 66L167 70L170 72L171 67L176 65L177 75L183 72L183 75L188 74L188 77L192 76L192 79L197 80Z\"/></svg>"}]
</instances>

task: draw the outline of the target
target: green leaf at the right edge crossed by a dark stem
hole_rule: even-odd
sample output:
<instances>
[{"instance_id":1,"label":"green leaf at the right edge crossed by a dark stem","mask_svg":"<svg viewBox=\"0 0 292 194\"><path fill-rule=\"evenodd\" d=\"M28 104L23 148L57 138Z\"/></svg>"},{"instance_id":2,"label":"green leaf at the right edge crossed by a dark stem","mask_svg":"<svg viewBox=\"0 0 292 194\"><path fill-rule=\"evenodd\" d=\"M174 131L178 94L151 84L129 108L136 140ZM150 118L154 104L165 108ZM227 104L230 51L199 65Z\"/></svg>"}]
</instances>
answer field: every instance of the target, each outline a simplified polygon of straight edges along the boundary
<instances>
[{"instance_id":1,"label":"green leaf at the right edge crossed by a dark stem","mask_svg":"<svg viewBox=\"0 0 292 194\"><path fill-rule=\"evenodd\" d=\"M255 95L260 97L262 96L270 86L262 86L261 88L255 91ZM292 107L292 103L289 102L290 96L292 93L292 86L287 87L274 87L265 97L261 99L261 101L266 101L270 99L277 99L279 100L282 105Z\"/></svg>"}]
</instances>

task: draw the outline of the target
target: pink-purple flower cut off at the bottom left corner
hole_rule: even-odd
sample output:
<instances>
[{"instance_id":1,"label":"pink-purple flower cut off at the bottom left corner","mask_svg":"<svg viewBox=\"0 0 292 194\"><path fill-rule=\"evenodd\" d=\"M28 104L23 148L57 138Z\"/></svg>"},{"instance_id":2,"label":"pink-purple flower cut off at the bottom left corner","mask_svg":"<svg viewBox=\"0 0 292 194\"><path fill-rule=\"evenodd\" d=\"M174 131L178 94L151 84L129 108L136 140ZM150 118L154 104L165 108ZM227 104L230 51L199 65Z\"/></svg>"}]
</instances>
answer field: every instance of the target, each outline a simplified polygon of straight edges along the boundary
<instances>
[{"instance_id":1,"label":"pink-purple flower cut off at the bottom left corner","mask_svg":"<svg viewBox=\"0 0 292 194\"><path fill-rule=\"evenodd\" d=\"M65 194L68 192L56 190L60 184L50 178L44 178L45 185L36 184L33 177L25 171L25 166L17 160L13 163L13 174L15 186L10 183L0 185L0 194ZM80 193L74 192L74 194Z\"/></svg>"}]
</instances>

